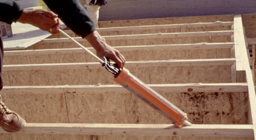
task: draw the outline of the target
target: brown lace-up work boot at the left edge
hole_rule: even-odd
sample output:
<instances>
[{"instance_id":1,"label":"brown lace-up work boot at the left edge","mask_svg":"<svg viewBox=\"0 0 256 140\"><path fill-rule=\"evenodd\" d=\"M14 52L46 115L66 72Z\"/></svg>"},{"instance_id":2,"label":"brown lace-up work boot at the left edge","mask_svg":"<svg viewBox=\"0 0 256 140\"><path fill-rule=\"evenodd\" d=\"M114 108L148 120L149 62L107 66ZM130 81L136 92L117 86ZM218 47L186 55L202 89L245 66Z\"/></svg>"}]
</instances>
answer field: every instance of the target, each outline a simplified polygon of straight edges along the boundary
<instances>
[{"instance_id":1,"label":"brown lace-up work boot at the left edge","mask_svg":"<svg viewBox=\"0 0 256 140\"><path fill-rule=\"evenodd\" d=\"M5 106L0 95L0 126L7 132L17 132L25 124L26 121L22 117Z\"/></svg>"}]
</instances>

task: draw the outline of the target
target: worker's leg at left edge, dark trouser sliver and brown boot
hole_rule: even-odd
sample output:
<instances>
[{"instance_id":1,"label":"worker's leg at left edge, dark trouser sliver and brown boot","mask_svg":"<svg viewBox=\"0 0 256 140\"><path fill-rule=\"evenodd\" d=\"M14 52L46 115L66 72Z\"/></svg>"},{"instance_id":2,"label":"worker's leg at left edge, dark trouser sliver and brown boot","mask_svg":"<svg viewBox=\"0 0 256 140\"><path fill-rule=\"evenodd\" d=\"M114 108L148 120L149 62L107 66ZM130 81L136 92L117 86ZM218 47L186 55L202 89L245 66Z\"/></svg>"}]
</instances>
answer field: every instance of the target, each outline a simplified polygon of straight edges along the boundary
<instances>
[{"instance_id":1,"label":"worker's leg at left edge, dark trouser sliver and brown boot","mask_svg":"<svg viewBox=\"0 0 256 140\"><path fill-rule=\"evenodd\" d=\"M4 46L3 41L0 36L0 91L3 89L3 79L2 79L2 68L4 62ZM17 113L10 110L2 102L2 97L0 94L0 126L8 132L17 132L22 129L26 124L26 121L20 117Z\"/></svg>"}]
</instances>

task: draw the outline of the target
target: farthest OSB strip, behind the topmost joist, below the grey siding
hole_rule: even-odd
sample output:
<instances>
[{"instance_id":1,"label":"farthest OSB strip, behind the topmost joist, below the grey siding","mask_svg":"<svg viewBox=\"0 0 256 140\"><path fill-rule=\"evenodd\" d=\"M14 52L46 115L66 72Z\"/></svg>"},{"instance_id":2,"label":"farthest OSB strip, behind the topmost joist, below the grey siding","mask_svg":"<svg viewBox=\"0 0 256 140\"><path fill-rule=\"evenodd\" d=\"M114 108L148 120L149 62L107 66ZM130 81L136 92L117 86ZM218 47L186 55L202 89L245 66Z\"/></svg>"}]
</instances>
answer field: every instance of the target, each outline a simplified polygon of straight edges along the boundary
<instances>
[{"instance_id":1,"label":"farthest OSB strip, behind the topmost joist, below the grey siding","mask_svg":"<svg viewBox=\"0 0 256 140\"><path fill-rule=\"evenodd\" d=\"M99 27L120 27L120 26L142 26L142 25L163 25L163 24L182 24L199 23L215 21L233 21L234 15L216 15L216 16L190 16L173 18L153 18L153 19L135 19L135 20L115 20L99 21Z\"/></svg>"}]
</instances>

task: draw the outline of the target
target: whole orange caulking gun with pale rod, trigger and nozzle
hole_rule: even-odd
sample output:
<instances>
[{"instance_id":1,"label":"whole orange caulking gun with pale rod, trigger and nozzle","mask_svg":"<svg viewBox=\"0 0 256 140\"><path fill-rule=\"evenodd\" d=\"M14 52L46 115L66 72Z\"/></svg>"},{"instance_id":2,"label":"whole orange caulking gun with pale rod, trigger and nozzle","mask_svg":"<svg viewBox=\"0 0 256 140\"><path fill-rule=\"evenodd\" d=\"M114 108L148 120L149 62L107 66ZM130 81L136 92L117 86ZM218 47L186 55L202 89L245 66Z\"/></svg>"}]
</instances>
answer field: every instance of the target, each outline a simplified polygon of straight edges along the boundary
<instances>
[{"instance_id":1,"label":"whole orange caulking gun with pale rod, trigger and nozzle","mask_svg":"<svg viewBox=\"0 0 256 140\"><path fill-rule=\"evenodd\" d=\"M124 87L126 90L133 93L135 96L140 98L146 104L154 108L158 113L164 116L167 120L171 121L175 126L179 127L183 125L191 125L187 121L187 114L180 110L178 107L170 103L168 100L163 98L160 94L155 92L150 87L146 86L141 80L135 77L126 68L119 68L116 64L110 63L108 58L103 57L99 59L94 53L87 48L83 47L69 35L59 29L59 32L70 38L77 45L83 48L86 52L90 53L95 57L103 67L114 74L114 81Z\"/></svg>"}]
</instances>

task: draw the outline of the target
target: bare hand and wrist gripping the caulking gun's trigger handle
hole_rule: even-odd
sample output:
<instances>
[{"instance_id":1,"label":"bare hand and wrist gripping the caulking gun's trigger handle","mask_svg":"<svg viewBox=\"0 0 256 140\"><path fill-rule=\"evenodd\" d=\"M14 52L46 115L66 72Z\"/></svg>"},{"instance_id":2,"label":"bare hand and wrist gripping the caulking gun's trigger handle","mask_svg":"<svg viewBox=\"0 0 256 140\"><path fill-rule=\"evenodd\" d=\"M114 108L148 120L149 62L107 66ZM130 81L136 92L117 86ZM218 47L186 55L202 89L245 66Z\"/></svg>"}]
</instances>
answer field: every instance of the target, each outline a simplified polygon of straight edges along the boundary
<instances>
[{"instance_id":1,"label":"bare hand and wrist gripping the caulking gun's trigger handle","mask_svg":"<svg viewBox=\"0 0 256 140\"><path fill-rule=\"evenodd\" d=\"M123 68L125 64L125 58L123 55L115 48L106 44L105 39L102 38L97 31L92 32L86 36L85 39L88 40L94 47L97 52L97 56L100 59L102 57L109 58L114 61L120 68Z\"/></svg>"}]
</instances>

